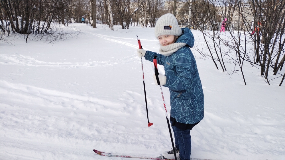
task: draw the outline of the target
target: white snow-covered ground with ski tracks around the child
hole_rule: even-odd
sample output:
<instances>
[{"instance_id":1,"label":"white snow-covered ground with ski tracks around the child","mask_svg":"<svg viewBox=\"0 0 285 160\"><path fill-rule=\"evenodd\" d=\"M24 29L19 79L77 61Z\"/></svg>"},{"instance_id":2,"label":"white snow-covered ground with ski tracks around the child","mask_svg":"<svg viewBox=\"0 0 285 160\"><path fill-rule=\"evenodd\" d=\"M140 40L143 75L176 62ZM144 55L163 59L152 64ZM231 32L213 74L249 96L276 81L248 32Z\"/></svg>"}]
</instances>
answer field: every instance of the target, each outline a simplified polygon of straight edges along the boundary
<instances>
[{"instance_id":1,"label":"white snow-covered ground with ski tracks around the child","mask_svg":"<svg viewBox=\"0 0 285 160\"><path fill-rule=\"evenodd\" d=\"M152 78L153 64L143 60L149 121L154 123L147 127L136 54L136 35L144 49L158 51L154 29L74 27L83 34L53 44L26 43L23 38L13 45L1 42L0 159L125 160L97 155L93 149L147 157L170 150L160 89ZM198 31L193 33L196 39L201 37ZM205 117L191 131L191 157L284 160L281 77L268 85L257 68L245 64L244 85L241 75L230 79L211 60L197 59L197 65ZM163 66L159 70L163 73ZM163 87L163 92L170 111L169 91Z\"/></svg>"}]
</instances>

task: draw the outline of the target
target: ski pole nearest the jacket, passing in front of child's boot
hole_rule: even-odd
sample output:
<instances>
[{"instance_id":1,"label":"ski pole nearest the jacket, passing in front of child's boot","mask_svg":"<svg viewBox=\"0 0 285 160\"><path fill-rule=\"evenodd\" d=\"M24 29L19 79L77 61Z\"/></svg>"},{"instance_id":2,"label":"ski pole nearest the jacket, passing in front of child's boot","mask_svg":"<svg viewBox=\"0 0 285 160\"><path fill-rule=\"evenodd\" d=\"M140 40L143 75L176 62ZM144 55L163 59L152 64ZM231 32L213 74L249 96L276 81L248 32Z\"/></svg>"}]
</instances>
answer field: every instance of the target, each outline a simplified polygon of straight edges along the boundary
<instances>
[{"instance_id":1,"label":"ski pole nearest the jacket, passing in front of child's boot","mask_svg":"<svg viewBox=\"0 0 285 160\"><path fill-rule=\"evenodd\" d=\"M176 157L176 150L175 150L175 148L174 148L172 133L171 133L170 125L169 125L168 114L167 114L167 110L166 110L166 106L165 106L165 102L164 102L164 96L163 96L162 88L161 88L161 85L160 85L160 82L159 82L159 79L158 79L159 73L158 73L158 70L157 70L157 60L156 60L156 56L154 56L154 58L153 58L153 64L154 64L154 74L155 74L155 78L156 78L156 81L157 81L157 85L160 86L160 92L161 92L161 96L162 96L162 100L163 100L163 106L164 106L164 110L165 110L165 117L166 117L168 129L169 129L169 134L170 134L170 139L171 139L171 143L172 143L172 148L173 148L173 151L174 151L174 157L175 157L175 160L177 160L177 157Z\"/></svg>"}]
</instances>

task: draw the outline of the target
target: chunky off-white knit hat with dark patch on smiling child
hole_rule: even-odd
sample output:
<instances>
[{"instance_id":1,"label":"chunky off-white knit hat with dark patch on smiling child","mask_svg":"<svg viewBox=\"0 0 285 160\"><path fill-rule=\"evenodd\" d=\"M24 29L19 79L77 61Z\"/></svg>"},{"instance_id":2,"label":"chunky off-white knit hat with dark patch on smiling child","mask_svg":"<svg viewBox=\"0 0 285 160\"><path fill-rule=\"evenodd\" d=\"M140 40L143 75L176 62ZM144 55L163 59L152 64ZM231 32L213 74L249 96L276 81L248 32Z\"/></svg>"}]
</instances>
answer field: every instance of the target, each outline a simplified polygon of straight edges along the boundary
<instances>
[{"instance_id":1,"label":"chunky off-white knit hat with dark patch on smiling child","mask_svg":"<svg viewBox=\"0 0 285 160\"><path fill-rule=\"evenodd\" d=\"M178 25L177 19L171 13L161 16L154 27L154 35L157 38L160 35L177 35L180 36L182 30Z\"/></svg>"}]
</instances>

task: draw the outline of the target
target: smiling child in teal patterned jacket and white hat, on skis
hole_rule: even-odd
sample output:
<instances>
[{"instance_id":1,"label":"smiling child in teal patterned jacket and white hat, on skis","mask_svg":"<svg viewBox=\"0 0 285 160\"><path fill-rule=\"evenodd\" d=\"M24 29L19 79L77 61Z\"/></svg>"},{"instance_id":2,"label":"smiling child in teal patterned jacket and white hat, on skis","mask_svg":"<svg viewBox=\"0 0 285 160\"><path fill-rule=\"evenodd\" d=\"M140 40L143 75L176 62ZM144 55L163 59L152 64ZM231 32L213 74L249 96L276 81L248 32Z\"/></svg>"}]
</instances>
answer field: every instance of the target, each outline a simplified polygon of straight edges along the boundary
<instances>
[{"instance_id":1,"label":"smiling child in teal patterned jacket and white hat, on skis","mask_svg":"<svg viewBox=\"0 0 285 160\"><path fill-rule=\"evenodd\" d=\"M156 22L155 37L158 38L158 53L137 49L139 57L164 66L165 75L159 74L160 84L170 90L170 122L175 138L178 159L190 160L190 130L204 117L204 94L196 60L190 50L194 37L189 28L180 28L173 14L164 14ZM154 83L157 85L155 75ZM174 149L165 151L163 157L174 159Z\"/></svg>"}]
</instances>

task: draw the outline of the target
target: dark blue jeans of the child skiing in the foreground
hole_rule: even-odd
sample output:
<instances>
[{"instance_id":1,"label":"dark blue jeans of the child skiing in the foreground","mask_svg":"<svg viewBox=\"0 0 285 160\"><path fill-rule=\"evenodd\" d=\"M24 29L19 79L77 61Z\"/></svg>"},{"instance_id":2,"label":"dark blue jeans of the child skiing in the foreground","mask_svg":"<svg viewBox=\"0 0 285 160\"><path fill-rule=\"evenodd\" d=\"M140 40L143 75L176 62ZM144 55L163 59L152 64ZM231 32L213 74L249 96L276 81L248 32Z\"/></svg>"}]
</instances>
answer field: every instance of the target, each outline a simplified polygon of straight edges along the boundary
<instances>
[{"instance_id":1,"label":"dark blue jeans of the child skiing in the foreground","mask_svg":"<svg viewBox=\"0 0 285 160\"><path fill-rule=\"evenodd\" d=\"M171 122L171 121L170 121ZM174 132L175 138L175 145L180 153L181 160L190 160L191 155L191 136L190 136L190 129L181 130L175 126L171 126Z\"/></svg>"}]
</instances>

